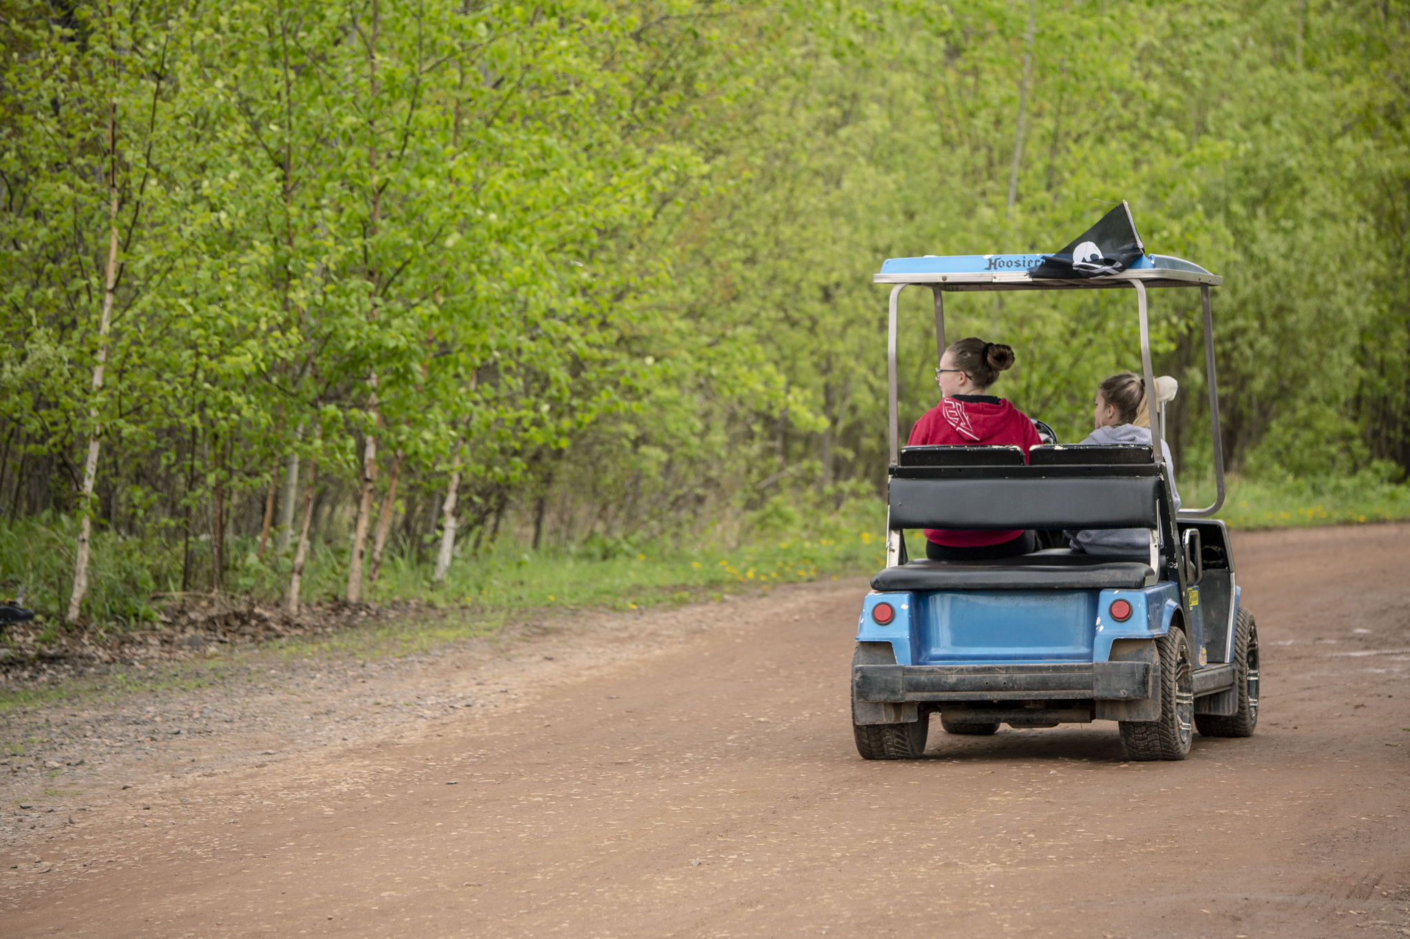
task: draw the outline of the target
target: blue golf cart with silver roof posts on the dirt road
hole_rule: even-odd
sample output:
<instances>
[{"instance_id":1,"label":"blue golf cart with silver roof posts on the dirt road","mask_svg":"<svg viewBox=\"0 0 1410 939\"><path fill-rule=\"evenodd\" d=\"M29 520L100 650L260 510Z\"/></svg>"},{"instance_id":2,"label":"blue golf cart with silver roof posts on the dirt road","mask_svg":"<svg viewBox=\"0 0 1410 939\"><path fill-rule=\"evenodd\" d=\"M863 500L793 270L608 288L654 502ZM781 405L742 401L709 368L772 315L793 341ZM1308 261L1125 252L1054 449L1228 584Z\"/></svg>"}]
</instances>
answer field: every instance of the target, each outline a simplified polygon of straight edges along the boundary
<instances>
[{"instance_id":1,"label":"blue golf cart with silver roof posts on the dirt road","mask_svg":"<svg viewBox=\"0 0 1410 939\"><path fill-rule=\"evenodd\" d=\"M1193 729L1249 736L1258 722L1258 631L1239 605L1224 503L1210 289L1222 279L1141 253L1118 273L1032 276L1036 255L890 259L890 473L885 569L862 605L852 721L869 760L915 759L929 719L949 733L1000 725L1115 721L1132 760L1180 760ZM945 296L980 290L1134 290L1145 400L1156 401L1146 297L1197 289L1214 438L1215 500L1176 511L1160 446L898 446L897 300L933 294L936 355ZM1165 421L1151 408L1152 439ZM909 560L904 531L1141 528L1138 556L1065 548L1000 560Z\"/></svg>"}]
</instances>

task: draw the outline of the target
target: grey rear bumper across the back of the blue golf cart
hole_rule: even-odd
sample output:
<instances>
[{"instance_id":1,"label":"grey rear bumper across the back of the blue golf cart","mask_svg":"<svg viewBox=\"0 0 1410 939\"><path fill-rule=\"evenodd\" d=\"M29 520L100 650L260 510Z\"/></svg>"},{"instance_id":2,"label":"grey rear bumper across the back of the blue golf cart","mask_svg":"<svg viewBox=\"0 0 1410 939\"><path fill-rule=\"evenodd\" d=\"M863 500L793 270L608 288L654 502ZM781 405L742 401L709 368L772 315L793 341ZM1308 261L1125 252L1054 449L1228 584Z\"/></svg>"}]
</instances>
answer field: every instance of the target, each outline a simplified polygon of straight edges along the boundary
<instances>
[{"instance_id":1,"label":"grey rear bumper across the back of the blue golf cart","mask_svg":"<svg viewBox=\"0 0 1410 939\"><path fill-rule=\"evenodd\" d=\"M857 664L856 701L1132 701L1151 697L1149 662Z\"/></svg>"}]
</instances>

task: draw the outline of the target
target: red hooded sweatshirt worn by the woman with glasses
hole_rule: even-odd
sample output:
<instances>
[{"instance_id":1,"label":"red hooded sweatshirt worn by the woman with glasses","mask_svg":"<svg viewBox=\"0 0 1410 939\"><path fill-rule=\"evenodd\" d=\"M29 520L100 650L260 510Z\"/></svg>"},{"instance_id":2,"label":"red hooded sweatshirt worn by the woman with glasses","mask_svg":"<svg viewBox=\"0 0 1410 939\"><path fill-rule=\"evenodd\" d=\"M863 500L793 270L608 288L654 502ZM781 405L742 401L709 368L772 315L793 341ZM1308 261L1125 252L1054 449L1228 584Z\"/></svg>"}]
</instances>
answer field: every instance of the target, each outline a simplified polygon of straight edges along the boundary
<instances>
[{"instance_id":1,"label":"red hooded sweatshirt worn by the woman with glasses","mask_svg":"<svg viewBox=\"0 0 1410 939\"><path fill-rule=\"evenodd\" d=\"M950 446L1018 445L1028 450L1038 443L1038 431L1022 411L1004 398L988 394L956 394L921 415L911 428L911 446L943 443ZM925 536L949 548L998 545L1022 535L1022 531L971 531L966 528L926 528Z\"/></svg>"}]
</instances>

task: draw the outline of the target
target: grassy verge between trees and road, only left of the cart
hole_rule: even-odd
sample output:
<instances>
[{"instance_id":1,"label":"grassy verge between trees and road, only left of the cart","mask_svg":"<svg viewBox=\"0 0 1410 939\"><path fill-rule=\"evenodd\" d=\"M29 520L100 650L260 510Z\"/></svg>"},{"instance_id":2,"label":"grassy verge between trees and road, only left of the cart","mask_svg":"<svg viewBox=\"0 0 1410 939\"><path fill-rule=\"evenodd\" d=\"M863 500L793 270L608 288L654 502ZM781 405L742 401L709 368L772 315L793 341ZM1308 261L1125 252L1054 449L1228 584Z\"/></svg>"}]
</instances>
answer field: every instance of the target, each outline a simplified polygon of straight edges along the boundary
<instances>
[{"instance_id":1,"label":"grassy verge between trees and road, only left of the cart","mask_svg":"<svg viewBox=\"0 0 1410 939\"><path fill-rule=\"evenodd\" d=\"M508 624L561 615L574 610L630 612L658 605L722 600L737 593L763 594L780 584L802 583L869 572L883 563L884 507L866 498L835 511L801 512L787 504L766 505L749 519L750 541L729 545L721 534L682 534L678 541L633 545L591 542L577 549L533 552L503 541L481 555L464 553L451 565L447 581L436 584L429 565L409 556L388 559L382 577L369 588L374 603L416 600L429 608L412 608L381 622L327 635L292 636L258 648L226 649L219 657L159 666L121 666L102 676L83 676L31 688L0 690L0 714L75 700L114 700L137 693L183 691L230 680L259 681L264 663L302 657L385 659L416 655L450 643L494 636ZM32 534L32 532L31 532ZM697 548L680 541L695 539ZM10 532L10 545L23 539ZM0 539L0 546L6 543ZM131 567L141 550L137 541L100 541L94 563ZM124 555L103 557L102 550ZM250 556L237 562L231 581L247 595L278 603L283 587L279 563L255 566ZM0 555L3 562L3 555ZM338 595L345 557L320 549L306 573L306 601ZM154 565L157 567L157 565ZM169 557L166 576L171 574ZM52 572L51 572L52 574ZM161 577L158 573L155 577ZM243 579L243 580L241 580ZM104 583L111 583L107 580ZM138 580L138 586L148 583ZM51 594L52 595L52 594ZM125 603L147 603L151 595ZM116 603L116 597L109 597ZM37 604L44 610L44 604ZM56 618L51 610L44 610ZM155 615L155 612L154 612ZM134 619L145 625L147 617ZM123 628L109 621L109 628ZM58 629L61 626L55 626ZM149 626L147 626L149 628Z\"/></svg>"}]
</instances>

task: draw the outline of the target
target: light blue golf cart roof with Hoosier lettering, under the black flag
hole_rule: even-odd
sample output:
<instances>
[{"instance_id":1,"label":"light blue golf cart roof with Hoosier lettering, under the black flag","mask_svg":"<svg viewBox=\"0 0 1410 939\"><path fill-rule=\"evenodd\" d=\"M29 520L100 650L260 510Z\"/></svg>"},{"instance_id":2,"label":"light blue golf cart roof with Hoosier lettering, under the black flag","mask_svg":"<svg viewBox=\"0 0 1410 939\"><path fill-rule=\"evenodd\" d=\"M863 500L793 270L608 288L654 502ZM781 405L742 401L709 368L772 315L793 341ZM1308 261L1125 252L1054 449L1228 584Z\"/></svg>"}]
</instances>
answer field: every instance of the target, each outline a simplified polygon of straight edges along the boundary
<instances>
[{"instance_id":1,"label":"light blue golf cart roof with Hoosier lettering, under the black flag","mask_svg":"<svg viewBox=\"0 0 1410 939\"><path fill-rule=\"evenodd\" d=\"M1101 277L1032 277L1042 255L926 255L890 258L874 283L928 284L939 290L1098 290L1139 280L1146 287L1218 287L1224 277L1170 255L1141 255L1118 275Z\"/></svg>"}]
</instances>

